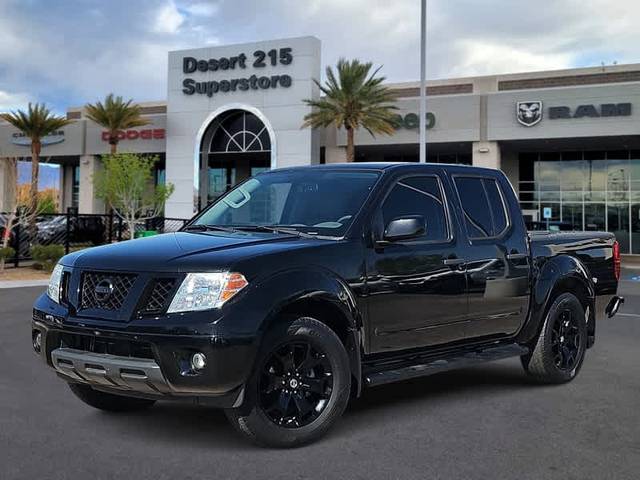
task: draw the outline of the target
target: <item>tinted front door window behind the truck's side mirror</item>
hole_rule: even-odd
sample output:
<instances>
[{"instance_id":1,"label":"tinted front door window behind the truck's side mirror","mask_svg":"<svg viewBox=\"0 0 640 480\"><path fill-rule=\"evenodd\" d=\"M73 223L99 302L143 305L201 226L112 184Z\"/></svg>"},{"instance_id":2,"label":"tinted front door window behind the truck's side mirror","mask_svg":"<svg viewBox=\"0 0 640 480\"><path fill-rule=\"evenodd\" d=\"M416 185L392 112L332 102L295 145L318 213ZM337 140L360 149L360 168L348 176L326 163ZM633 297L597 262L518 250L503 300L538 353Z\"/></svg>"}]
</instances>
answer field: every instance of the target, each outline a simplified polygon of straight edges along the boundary
<instances>
[{"instance_id":1,"label":"tinted front door window behind the truck's side mirror","mask_svg":"<svg viewBox=\"0 0 640 480\"><path fill-rule=\"evenodd\" d=\"M385 226L394 218L422 215L426 232L420 240L446 240L447 220L442 193L435 177L411 177L399 181L382 206Z\"/></svg>"}]
</instances>

